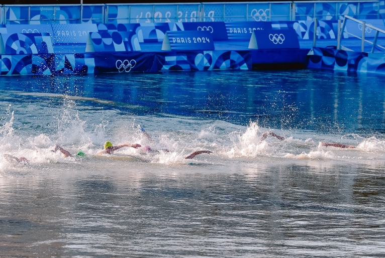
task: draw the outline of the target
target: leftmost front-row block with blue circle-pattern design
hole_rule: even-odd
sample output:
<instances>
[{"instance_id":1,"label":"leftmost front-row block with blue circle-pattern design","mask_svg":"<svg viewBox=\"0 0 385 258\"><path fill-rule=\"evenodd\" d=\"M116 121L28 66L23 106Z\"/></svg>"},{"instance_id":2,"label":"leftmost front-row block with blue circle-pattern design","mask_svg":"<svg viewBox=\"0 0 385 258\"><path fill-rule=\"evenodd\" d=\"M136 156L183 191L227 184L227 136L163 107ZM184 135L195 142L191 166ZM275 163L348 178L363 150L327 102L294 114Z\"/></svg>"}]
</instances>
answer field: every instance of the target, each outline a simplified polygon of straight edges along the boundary
<instances>
[{"instance_id":1,"label":"leftmost front-row block with blue circle-pattern design","mask_svg":"<svg viewBox=\"0 0 385 258\"><path fill-rule=\"evenodd\" d=\"M5 53L11 54L48 54L53 53L48 33L2 34Z\"/></svg>"}]
</instances>

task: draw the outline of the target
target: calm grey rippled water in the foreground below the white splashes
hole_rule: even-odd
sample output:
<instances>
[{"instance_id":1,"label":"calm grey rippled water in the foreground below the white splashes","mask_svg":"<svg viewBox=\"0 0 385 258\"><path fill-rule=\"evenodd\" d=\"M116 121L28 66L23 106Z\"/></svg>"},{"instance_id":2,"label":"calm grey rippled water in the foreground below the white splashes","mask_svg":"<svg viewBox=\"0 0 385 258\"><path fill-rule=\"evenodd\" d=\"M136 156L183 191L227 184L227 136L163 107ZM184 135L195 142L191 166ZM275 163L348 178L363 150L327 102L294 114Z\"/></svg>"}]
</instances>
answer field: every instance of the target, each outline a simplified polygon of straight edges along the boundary
<instances>
[{"instance_id":1,"label":"calm grey rippled water in the foreground below the white splashes","mask_svg":"<svg viewBox=\"0 0 385 258\"><path fill-rule=\"evenodd\" d=\"M381 256L382 169L0 179L2 256ZM139 167L135 167L139 166ZM140 165L135 165L140 171Z\"/></svg>"}]
</instances>

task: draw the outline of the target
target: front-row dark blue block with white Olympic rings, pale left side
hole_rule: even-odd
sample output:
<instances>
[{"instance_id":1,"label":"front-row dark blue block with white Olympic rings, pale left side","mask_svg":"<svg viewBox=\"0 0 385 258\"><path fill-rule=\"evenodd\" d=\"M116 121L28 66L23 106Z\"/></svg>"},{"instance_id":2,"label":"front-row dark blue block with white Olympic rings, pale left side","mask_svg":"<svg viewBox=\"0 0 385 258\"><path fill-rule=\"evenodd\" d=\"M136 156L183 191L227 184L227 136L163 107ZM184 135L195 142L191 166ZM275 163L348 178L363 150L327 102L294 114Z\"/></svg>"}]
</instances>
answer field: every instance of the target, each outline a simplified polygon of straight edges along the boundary
<instances>
[{"instance_id":1,"label":"front-row dark blue block with white Olympic rings, pale left side","mask_svg":"<svg viewBox=\"0 0 385 258\"><path fill-rule=\"evenodd\" d=\"M259 30L254 31L250 39L250 49L281 49L300 48L298 35L295 30Z\"/></svg>"}]
</instances>

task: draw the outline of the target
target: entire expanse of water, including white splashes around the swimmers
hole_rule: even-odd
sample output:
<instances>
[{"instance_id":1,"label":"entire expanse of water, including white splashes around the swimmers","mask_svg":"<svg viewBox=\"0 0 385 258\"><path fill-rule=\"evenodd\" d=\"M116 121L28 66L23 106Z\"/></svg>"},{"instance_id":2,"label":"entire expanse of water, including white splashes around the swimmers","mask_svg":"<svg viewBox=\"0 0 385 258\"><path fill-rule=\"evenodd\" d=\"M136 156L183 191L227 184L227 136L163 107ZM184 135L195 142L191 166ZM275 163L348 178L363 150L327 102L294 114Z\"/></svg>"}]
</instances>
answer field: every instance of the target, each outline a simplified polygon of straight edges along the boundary
<instances>
[{"instance_id":1,"label":"entire expanse of water, including white splashes around the swimmers","mask_svg":"<svg viewBox=\"0 0 385 258\"><path fill-rule=\"evenodd\" d=\"M290 70L0 81L5 256L385 251L385 77ZM285 139L261 142L267 130ZM159 151L95 155L106 141ZM65 158L51 152L55 144L86 157ZM199 150L213 153L184 159Z\"/></svg>"}]
</instances>

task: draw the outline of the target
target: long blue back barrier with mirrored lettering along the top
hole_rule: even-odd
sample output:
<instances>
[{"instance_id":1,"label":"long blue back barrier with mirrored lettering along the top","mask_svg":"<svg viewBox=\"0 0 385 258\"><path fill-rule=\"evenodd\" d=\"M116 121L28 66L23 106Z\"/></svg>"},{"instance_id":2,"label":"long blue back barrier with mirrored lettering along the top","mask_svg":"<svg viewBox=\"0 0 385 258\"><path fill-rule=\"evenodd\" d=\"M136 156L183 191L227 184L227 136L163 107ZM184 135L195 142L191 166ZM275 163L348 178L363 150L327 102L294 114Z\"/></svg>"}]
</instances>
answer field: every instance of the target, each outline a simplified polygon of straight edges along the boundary
<instances>
[{"instance_id":1,"label":"long blue back barrier with mirrored lettering along the top","mask_svg":"<svg viewBox=\"0 0 385 258\"><path fill-rule=\"evenodd\" d=\"M385 19L385 0L0 7L0 24L265 22Z\"/></svg>"}]
</instances>

